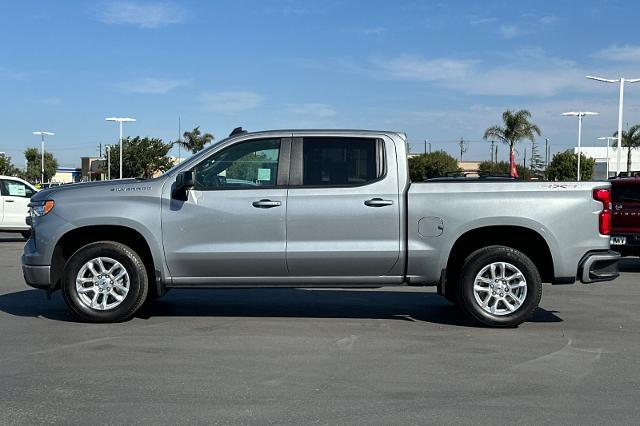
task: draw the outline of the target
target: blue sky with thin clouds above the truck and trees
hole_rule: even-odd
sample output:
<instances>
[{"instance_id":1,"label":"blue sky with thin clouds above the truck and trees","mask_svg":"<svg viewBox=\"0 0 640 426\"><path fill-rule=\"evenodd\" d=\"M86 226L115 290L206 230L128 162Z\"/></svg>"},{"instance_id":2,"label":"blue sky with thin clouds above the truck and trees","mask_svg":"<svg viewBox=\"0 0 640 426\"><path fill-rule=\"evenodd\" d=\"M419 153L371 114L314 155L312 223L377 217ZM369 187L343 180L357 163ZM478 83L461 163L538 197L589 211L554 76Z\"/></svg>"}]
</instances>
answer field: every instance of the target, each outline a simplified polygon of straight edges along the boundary
<instances>
[{"instance_id":1,"label":"blue sky with thin clouds above the truck and trees","mask_svg":"<svg viewBox=\"0 0 640 426\"><path fill-rule=\"evenodd\" d=\"M552 150L617 126L618 88L640 77L632 1L29 1L0 5L0 151L22 165L34 130L64 166L129 135L200 125L407 132L414 148L485 159L485 128L527 108ZM640 83L625 122L640 123ZM501 148L500 156L506 158ZM520 157L523 149L519 150Z\"/></svg>"}]
</instances>

